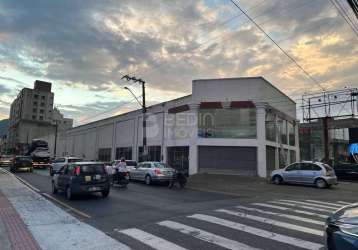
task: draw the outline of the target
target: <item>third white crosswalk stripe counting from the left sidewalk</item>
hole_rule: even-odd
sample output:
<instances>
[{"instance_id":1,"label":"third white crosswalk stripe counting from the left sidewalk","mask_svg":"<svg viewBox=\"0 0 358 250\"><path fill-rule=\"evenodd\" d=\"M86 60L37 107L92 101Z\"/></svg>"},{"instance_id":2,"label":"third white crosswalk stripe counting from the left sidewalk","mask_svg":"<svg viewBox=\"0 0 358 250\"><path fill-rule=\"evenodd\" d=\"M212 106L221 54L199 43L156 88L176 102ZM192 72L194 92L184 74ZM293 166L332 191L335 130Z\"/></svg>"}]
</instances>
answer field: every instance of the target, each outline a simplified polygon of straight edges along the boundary
<instances>
[{"instance_id":1,"label":"third white crosswalk stripe counting from the left sidewalk","mask_svg":"<svg viewBox=\"0 0 358 250\"><path fill-rule=\"evenodd\" d=\"M193 218L193 219L198 219L201 221L205 221L205 222L209 222L209 223L214 223L214 224L228 227L228 228L231 228L234 230L243 231L243 232L246 232L249 234L257 235L257 236L260 236L263 238L275 240L278 242L282 242L285 244L289 244L289 245L293 245L296 247L305 248L305 249L309 249L309 250L319 250L324 247L322 244L317 244L317 243L301 240L301 239L286 236L283 234L273 233L270 231L247 226L247 225L229 221L229 220L220 219L220 218L210 216L210 215L194 214L194 215L190 215L188 217Z\"/></svg>"}]
</instances>

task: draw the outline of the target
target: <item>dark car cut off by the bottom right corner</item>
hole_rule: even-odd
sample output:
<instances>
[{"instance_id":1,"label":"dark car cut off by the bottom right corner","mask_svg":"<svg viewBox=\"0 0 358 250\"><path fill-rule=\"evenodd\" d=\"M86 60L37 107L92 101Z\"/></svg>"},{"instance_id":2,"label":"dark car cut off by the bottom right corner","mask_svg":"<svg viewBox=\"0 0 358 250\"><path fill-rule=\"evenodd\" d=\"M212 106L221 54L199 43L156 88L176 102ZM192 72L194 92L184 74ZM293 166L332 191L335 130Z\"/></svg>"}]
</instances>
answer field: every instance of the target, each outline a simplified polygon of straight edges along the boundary
<instances>
[{"instance_id":1,"label":"dark car cut off by the bottom right corner","mask_svg":"<svg viewBox=\"0 0 358 250\"><path fill-rule=\"evenodd\" d=\"M358 203L345 206L326 222L328 250L358 249Z\"/></svg>"}]
</instances>

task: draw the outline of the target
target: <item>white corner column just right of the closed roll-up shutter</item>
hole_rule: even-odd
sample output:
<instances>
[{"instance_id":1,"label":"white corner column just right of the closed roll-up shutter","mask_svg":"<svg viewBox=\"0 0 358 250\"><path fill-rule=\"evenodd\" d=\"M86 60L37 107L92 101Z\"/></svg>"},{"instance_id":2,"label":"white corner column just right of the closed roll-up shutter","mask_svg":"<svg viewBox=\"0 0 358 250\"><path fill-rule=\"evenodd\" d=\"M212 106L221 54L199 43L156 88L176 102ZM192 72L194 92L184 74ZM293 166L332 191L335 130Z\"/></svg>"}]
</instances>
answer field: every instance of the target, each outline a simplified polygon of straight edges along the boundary
<instances>
[{"instance_id":1,"label":"white corner column just right of the closed roll-up shutter","mask_svg":"<svg viewBox=\"0 0 358 250\"><path fill-rule=\"evenodd\" d=\"M256 129L257 129L257 174L259 177L267 176L266 169L266 103L256 103Z\"/></svg>"}]
</instances>

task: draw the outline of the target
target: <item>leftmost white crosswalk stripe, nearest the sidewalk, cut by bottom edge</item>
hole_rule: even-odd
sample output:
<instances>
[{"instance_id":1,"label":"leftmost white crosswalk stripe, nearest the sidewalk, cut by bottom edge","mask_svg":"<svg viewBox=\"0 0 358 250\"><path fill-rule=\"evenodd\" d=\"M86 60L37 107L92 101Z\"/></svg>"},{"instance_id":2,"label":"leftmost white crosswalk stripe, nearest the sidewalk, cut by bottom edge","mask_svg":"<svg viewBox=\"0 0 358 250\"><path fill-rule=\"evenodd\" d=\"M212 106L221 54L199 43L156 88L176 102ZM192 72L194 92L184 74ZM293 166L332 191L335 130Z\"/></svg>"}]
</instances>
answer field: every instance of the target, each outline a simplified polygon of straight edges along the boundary
<instances>
[{"instance_id":1,"label":"leftmost white crosswalk stripe, nearest the sidewalk, cut by bottom edge","mask_svg":"<svg viewBox=\"0 0 358 250\"><path fill-rule=\"evenodd\" d=\"M170 241L164 240L162 238L159 238L153 234L147 233L145 231L142 231L137 228L129 228L125 230L118 230L118 232L128 235L129 237L132 237L143 244L150 246L157 250L186 250L183 247L180 247Z\"/></svg>"}]
</instances>

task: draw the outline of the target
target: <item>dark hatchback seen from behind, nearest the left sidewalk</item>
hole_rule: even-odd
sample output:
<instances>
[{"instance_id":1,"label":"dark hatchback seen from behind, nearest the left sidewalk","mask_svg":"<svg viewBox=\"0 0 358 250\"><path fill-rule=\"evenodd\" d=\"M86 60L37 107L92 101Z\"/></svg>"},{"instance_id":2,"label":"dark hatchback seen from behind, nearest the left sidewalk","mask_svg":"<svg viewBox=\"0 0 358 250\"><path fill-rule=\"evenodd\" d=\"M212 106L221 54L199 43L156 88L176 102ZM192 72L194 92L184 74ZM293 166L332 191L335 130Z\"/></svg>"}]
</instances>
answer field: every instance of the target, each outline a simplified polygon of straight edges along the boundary
<instances>
[{"instance_id":1,"label":"dark hatchback seen from behind, nearest the left sidewalk","mask_svg":"<svg viewBox=\"0 0 358 250\"><path fill-rule=\"evenodd\" d=\"M105 198L110 192L110 180L101 162L75 162L54 172L52 193L63 191L71 200L74 195L101 193Z\"/></svg>"}]
</instances>

